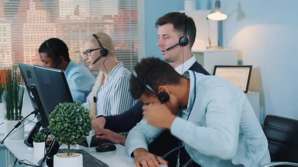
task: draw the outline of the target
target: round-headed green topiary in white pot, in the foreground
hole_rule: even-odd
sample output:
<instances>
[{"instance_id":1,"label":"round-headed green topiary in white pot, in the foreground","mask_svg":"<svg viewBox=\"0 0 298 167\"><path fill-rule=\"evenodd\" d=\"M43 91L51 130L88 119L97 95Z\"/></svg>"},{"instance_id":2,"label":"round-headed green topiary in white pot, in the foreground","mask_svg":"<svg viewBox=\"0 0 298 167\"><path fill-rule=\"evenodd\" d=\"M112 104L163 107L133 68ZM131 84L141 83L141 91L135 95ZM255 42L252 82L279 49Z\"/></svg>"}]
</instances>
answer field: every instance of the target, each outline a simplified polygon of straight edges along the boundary
<instances>
[{"instance_id":1,"label":"round-headed green topiary in white pot, in the foreground","mask_svg":"<svg viewBox=\"0 0 298 167\"><path fill-rule=\"evenodd\" d=\"M67 145L67 153L54 155L54 166L83 166L81 154L70 153L70 145L82 141L91 130L89 111L77 102L60 103L49 115L48 129L59 144Z\"/></svg>"}]
</instances>

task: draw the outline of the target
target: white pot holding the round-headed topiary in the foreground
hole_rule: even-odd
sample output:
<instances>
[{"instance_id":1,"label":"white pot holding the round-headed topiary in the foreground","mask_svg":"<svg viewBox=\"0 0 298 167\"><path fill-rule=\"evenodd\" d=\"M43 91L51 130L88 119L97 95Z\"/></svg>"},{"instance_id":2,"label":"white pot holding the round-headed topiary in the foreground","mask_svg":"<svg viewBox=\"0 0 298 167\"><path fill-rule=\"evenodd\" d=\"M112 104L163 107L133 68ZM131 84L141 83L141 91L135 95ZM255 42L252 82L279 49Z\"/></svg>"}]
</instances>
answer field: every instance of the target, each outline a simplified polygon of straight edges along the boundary
<instances>
[{"instance_id":1,"label":"white pot holding the round-headed topiary in the foreground","mask_svg":"<svg viewBox=\"0 0 298 167\"><path fill-rule=\"evenodd\" d=\"M77 157L58 157L58 154L54 155L54 167L82 167L83 155L79 154Z\"/></svg>"}]
</instances>

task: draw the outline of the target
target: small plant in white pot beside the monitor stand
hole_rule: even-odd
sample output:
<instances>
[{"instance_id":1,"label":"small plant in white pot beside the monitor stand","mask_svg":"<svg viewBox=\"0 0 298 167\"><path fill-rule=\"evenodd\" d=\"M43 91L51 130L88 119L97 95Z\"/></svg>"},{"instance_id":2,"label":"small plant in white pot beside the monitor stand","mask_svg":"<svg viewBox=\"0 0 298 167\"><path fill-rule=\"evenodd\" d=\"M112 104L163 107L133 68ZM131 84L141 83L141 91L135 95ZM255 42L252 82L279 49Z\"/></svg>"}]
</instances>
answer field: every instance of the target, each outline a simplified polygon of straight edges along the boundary
<instances>
[{"instance_id":1,"label":"small plant in white pot beside the monitor stand","mask_svg":"<svg viewBox=\"0 0 298 167\"><path fill-rule=\"evenodd\" d=\"M36 159L41 159L44 156L45 135L38 132L33 137L34 156Z\"/></svg>"}]
</instances>

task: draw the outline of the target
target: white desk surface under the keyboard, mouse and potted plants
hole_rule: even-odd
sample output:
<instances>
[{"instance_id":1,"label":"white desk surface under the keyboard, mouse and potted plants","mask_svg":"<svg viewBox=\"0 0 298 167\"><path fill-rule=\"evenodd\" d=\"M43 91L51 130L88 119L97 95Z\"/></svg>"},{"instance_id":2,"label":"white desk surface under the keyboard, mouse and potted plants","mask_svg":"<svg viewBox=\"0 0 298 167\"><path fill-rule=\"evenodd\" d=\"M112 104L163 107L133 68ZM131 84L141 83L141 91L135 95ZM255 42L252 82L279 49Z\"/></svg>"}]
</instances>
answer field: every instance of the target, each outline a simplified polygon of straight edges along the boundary
<instances>
[{"instance_id":1,"label":"white desk surface under the keyboard, mouse and potted plants","mask_svg":"<svg viewBox=\"0 0 298 167\"><path fill-rule=\"evenodd\" d=\"M0 123L3 119L0 120ZM25 126L25 136L31 130L32 124L27 124ZM4 138L4 125L0 125L0 140ZM26 133L27 132L27 133ZM19 160L27 159L32 163L37 164L39 159L34 159L34 149L28 147L24 144L24 139L22 140L5 140L4 145L8 148L6 150L6 166L13 166L15 157ZM116 144L116 151L110 152L96 152L95 147L89 149L89 153L100 159L101 161L107 163L110 167L117 166L135 166L133 159L126 155L124 146ZM74 147L73 147L74 148ZM45 163L44 163L45 164Z\"/></svg>"}]
</instances>

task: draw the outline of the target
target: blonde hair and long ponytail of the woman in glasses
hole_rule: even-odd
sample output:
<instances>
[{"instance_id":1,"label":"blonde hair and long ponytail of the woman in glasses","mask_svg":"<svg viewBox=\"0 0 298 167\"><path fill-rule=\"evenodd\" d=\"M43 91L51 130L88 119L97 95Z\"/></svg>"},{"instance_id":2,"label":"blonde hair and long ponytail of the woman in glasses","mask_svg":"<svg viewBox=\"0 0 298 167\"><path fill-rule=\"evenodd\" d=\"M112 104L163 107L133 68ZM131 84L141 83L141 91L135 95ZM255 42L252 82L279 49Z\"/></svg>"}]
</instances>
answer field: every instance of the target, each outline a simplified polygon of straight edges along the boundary
<instances>
[{"instance_id":1,"label":"blonde hair and long ponytail of the woman in glasses","mask_svg":"<svg viewBox=\"0 0 298 167\"><path fill-rule=\"evenodd\" d=\"M97 39L101 42L102 46L106 49L108 49L109 51L109 54L107 56L112 56L116 63L118 64L118 60L115 56L115 44L114 44L114 41L112 40L112 38L106 34L106 33L103 33L103 32L97 32L95 33L95 35L97 36ZM90 35L86 41L90 41L94 44L94 46L99 46L98 44L98 41L95 39L95 37L93 35ZM90 105L90 118L95 119L96 118L96 115L95 115L95 103L93 101L93 97L96 95L97 93L97 90L101 88L101 86L103 85L103 81L105 79L105 76L104 76L104 73L103 72L100 72L100 74L98 74L99 79L97 80L97 82L94 84L94 87L91 91L91 95L92 95L92 98L91 98L91 105Z\"/></svg>"}]
</instances>

